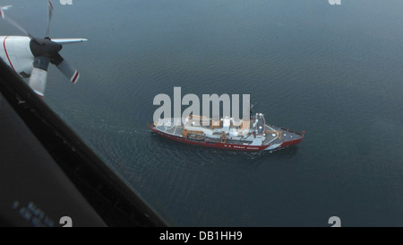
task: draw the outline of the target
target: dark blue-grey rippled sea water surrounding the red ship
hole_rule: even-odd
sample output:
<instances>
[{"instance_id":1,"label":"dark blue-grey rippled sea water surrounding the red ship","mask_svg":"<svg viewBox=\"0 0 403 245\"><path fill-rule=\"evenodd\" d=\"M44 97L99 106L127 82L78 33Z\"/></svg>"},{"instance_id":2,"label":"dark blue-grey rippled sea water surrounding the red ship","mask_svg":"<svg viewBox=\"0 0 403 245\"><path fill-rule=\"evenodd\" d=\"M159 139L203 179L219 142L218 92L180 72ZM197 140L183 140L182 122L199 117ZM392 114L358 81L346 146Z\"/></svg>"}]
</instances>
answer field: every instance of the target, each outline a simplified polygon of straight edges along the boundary
<instances>
[{"instance_id":1,"label":"dark blue-grey rippled sea water surrounding the red ship","mask_svg":"<svg viewBox=\"0 0 403 245\"><path fill-rule=\"evenodd\" d=\"M43 35L39 3L13 1L9 13ZM62 51L79 83L52 67L45 101L168 223L403 225L403 2L54 4L51 36L89 41ZM304 141L237 153L155 136L153 98L174 86L251 94L270 124Z\"/></svg>"}]
</instances>

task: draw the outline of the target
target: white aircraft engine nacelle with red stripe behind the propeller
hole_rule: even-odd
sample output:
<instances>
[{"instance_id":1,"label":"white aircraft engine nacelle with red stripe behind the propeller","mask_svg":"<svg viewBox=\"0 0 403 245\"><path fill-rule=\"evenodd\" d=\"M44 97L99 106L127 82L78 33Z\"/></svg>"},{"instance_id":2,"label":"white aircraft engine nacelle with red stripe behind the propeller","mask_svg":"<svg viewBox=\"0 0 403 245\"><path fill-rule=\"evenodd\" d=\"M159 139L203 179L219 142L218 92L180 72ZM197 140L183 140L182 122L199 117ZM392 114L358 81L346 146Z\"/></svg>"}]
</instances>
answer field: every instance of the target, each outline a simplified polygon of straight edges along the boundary
<instances>
[{"instance_id":1,"label":"white aircraft engine nacelle with red stripe behind the propeller","mask_svg":"<svg viewBox=\"0 0 403 245\"><path fill-rule=\"evenodd\" d=\"M34 57L30 51L29 37L0 37L0 57L17 74L20 74L22 77L30 76Z\"/></svg>"}]
</instances>

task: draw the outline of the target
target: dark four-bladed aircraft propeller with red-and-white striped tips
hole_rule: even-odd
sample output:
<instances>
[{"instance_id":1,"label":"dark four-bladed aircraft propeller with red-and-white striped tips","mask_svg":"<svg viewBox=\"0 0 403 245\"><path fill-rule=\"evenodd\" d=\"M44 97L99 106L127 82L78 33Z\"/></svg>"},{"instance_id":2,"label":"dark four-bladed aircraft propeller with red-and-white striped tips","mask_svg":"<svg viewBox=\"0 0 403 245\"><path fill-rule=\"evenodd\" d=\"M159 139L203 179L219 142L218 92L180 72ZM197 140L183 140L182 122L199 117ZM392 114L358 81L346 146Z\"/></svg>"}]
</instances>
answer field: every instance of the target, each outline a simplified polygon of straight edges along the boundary
<instances>
[{"instance_id":1,"label":"dark four-bladed aircraft propeller with red-and-white striped tips","mask_svg":"<svg viewBox=\"0 0 403 245\"><path fill-rule=\"evenodd\" d=\"M14 26L16 26L21 31L24 31L30 37L30 51L34 56L33 61L33 69L30 74L29 84L30 87L43 97L46 83L47 83L47 68L49 63L55 65L57 69L67 77L70 82L76 83L80 74L76 69L73 68L62 56L60 56L59 51L63 48L63 46L55 41L52 41L49 38L49 27L50 21L52 19L53 13L53 4L48 1L48 21L47 21L47 32L46 37L44 39L34 38L30 35L28 31L25 31L19 24L13 22L9 17L4 16L3 10L6 9L4 7L1 8L1 17L2 19L11 22ZM9 7L9 6L7 6Z\"/></svg>"}]
</instances>

